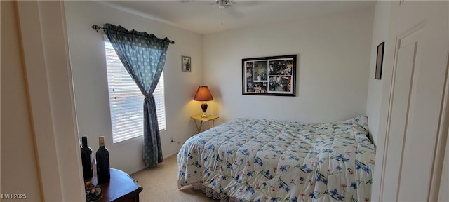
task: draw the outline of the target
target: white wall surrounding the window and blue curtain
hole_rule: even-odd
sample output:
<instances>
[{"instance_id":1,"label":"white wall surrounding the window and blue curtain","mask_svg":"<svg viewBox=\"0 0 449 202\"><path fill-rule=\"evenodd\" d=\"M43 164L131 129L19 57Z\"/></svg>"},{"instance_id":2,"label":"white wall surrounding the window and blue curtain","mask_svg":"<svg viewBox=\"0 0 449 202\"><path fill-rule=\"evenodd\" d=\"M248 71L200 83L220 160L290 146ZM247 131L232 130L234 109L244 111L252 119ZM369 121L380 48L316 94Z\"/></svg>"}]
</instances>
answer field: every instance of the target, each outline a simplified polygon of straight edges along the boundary
<instances>
[{"instance_id":1,"label":"white wall surrounding the window and blue curtain","mask_svg":"<svg viewBox=\"0 0 449 202\"><path fill-rule=\"evenodd\" d=\"M203 78L202 36L91 1L66 1L65 10L79 135L88 136L93 152L104 135L111 166L128 173L145 167L143 137L112 143L103 36L91 25L111 23L175 41L168 47L164 67L167 130L161 131L161 144L164 158L176 154L180 145L170 137L187 140L194 132L189 116L201 112L192 99ZM181 72L181 55L192 57L192 73Z\"/></svg>"}]
</instances>

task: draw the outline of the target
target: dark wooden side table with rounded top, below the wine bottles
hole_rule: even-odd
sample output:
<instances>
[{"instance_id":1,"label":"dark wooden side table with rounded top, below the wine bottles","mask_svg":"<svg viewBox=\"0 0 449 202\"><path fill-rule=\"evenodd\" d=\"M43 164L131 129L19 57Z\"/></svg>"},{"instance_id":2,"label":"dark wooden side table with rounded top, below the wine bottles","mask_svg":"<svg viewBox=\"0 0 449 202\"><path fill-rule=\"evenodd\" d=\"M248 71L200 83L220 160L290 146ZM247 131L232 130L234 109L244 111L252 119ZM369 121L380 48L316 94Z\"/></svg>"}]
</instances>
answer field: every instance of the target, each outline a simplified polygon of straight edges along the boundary
<instances>
[{"instance_id":1,"label":"dark wooden side table with rounded top, below the wine bottles","mask_svg":"<svg viewBox=\"0 0 449 202\"><path fill-rule=\"evenodd\" d=\"M100 185L100 202L139 202L139 193L142 191L140 186L133 178L121 170L109 168L111 180L109 182L98 184L97 176L93 175L90 180L95 185Z\"/></svg>"}]
</instances>

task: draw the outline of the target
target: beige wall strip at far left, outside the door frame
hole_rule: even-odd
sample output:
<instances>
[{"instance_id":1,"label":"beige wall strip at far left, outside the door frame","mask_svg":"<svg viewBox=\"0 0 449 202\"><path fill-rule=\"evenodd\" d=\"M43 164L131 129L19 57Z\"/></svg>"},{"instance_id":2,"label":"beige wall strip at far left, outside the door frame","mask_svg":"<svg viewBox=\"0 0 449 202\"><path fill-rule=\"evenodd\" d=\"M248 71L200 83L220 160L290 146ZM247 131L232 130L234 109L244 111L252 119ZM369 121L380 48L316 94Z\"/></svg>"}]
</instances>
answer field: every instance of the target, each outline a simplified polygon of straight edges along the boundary
<instances>
[{"instance_id":1,"label":"beige wall strip at far left, outside the door frame","mask_svg":"<svg viewBox=\"0 0 449 202\"><path fill-rule=\"evenodd\" d=\"M15 11L14 1L1 1L1 194L42 201Z\"/></svg>"}]
</instances>

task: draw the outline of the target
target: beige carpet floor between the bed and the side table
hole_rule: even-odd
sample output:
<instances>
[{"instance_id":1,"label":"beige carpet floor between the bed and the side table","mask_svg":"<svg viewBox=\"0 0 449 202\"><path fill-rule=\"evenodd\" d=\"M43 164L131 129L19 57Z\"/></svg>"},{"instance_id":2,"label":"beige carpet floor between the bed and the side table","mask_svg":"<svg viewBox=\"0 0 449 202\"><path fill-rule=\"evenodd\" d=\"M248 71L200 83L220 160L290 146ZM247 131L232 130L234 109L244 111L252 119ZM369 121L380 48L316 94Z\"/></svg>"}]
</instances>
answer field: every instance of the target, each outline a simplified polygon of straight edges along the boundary
<instances>
[{"instance_id":1,"label":"beige carpet floor between the bed and the side table","mask_svg":"<svg viewBox=\"0 0 449 202\"><path fill-rule=\"evenodd\" d=\"M143 187L140 201L215 201L192 186L177 189L176 155L164 159L157 168L147 168L131 175Z\"/></svg>"}]
</instances>

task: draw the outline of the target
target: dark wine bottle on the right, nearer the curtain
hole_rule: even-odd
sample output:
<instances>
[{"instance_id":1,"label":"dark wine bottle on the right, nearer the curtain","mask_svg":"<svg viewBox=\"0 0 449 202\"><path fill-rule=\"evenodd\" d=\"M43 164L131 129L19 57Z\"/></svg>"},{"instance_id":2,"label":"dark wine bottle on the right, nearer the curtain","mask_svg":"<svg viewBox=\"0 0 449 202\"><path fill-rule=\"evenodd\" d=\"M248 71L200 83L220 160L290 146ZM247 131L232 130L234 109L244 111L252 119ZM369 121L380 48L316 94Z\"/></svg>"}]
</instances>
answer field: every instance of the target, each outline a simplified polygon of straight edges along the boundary
<instances>
[{"instance_id":1,"label":"dark wine bottle on the right, nearer the curtain","mask_svg":"<svg viewBox=\"0 0 449 202\"><path fill-rule=\"evenodd\" d=\"M105 147L105 137L98 137L98 148L95 157L97 158L97 180L98 183L109 182L111 174L109 173L109 151Z\"/></svg>"}]
</instances>

